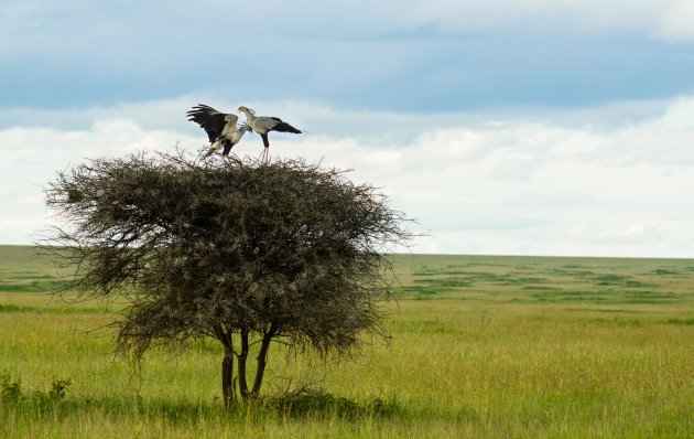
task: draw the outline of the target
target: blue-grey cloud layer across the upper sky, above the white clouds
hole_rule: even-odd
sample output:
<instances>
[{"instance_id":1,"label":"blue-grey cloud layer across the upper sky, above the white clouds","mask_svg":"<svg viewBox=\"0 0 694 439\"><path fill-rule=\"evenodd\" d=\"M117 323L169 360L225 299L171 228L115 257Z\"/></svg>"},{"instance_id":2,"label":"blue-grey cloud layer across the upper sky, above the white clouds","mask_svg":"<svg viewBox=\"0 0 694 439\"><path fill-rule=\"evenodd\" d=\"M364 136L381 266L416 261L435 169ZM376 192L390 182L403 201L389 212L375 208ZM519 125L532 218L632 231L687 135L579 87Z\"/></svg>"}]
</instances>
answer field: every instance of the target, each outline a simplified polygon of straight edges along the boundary
<instances>
[{"instance_id":1,"label":"blue-grey cloud layer across the upper sky, above the white clouds","mask_svg":"<svg viewBox=\"0 0 694 439\"><path fill-rule=\"evenodd\" d=\"M7 1L0 108L207 94L441 114L669 98L694 87L688 4Z\"/></svg>"}]
</instances>

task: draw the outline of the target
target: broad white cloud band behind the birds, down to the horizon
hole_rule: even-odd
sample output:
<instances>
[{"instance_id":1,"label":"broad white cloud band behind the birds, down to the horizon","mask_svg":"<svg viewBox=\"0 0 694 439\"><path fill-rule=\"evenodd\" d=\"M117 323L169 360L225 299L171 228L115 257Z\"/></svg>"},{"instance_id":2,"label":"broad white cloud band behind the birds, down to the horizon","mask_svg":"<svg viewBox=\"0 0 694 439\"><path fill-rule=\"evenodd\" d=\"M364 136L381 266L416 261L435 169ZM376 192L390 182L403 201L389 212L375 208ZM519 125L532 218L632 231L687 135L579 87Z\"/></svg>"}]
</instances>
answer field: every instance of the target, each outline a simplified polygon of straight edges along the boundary
<instances>
[{"instance_id":1,"label":"broad white cloud band behind the birds, down to the horizon","mask_svg":"<svg viewBox=\"0 0 694 439\"><path fill-rule=\"evenodd\" d=\"M181 98L97 108L64 114L62 124L76 128L20 124L0 130L3 186L12 188L0 192L7 207L0 242L31 240L45 222L41 186L69 163L176 143L197 150L206 138L185 121L192 104ZM395 208L419 218L415 228L431 236L414 251L694 255L694 98L650 103L639 118L619 105L572 118L571 111L398 115L246 104L310 131L271 133L273 156L354 169L354 180L382 188ZM52 120L26 110L7 116ZM610 126L589 124L604 117ZM261 150L257 136L235 148L241 156Z\"/></svg>"}]
</instances>

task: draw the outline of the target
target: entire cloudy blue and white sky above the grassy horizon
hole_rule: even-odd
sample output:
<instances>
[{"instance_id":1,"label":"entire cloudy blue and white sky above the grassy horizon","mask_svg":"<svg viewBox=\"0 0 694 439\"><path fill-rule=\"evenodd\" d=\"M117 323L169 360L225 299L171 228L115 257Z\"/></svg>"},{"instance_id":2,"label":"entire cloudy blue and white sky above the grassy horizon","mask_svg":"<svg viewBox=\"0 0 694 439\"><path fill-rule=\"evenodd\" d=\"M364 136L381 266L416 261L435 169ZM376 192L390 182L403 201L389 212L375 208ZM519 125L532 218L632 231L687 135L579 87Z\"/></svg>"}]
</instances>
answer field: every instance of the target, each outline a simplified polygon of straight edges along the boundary
<instances>
[{"instance_id":1,"label":"entire cloudy blue and white sky above the grassy horizon","mask_svg":"<svg viewBox=\"0 0 694 439\"><path fill-rule=\"evenodd\" d=\"M273 157L379 188L402 250L691 258L693 72L694 0L0 0L0 244L57 171L198 151L204 103L305 130Z\"/></svg>"}]
</instances>

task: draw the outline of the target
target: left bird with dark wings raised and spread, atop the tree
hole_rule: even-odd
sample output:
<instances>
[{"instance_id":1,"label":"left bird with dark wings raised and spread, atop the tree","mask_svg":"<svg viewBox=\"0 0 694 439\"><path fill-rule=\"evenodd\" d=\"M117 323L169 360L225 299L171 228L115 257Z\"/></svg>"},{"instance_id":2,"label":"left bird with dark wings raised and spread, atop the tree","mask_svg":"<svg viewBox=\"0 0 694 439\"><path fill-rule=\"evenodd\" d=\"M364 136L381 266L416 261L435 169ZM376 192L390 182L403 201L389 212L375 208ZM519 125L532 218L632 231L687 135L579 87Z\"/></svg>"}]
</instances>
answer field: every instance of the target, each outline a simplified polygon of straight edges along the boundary
<instances>
[{"instance_id":1,"label":"left bird with dark wings raised and spread, atop the tree","mask_svg":"<svg viewBox=\"0 0 694 439\"><path fill-rule=\"evenodd\" d=\"M251 129L248 124L242 124L239 127L238 116L218 111L204 104L193 107L186 113L186 116L188 116L188 120L199 125L209 137L210 147L204 158L219 151L219 149L223 149L221 156L227 157L246 131Z\"/></svg>"}]
</instances>

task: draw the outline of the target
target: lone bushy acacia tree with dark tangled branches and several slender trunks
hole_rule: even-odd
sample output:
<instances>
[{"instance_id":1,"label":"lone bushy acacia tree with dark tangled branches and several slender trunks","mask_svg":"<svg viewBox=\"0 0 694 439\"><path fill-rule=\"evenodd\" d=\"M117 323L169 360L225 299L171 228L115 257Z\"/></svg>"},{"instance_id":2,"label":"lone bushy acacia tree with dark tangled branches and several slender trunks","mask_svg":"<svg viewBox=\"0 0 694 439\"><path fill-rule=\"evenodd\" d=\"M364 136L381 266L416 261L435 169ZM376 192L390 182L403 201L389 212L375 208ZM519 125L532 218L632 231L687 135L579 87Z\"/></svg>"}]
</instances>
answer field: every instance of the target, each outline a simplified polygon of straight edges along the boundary
<instances>
[{"instance_id":1,"label":"lone bushy acacia tree with dark tangled branches and several slender trunks","mask_svg":"<svg viewBox=\"0 0 694 439\"><path fill-rule=\"evenodd\" d=\"M59 172L45 192L64 220L47 244L76 267L67 289L131 300L117 350L140 361L214 338L227 405L258 397L272 342L325 358L377 331L392 292L380 250L411 237L375 188L304 161L141 153Z\"/></svg>"}]
</instances>

